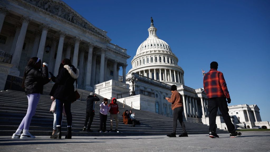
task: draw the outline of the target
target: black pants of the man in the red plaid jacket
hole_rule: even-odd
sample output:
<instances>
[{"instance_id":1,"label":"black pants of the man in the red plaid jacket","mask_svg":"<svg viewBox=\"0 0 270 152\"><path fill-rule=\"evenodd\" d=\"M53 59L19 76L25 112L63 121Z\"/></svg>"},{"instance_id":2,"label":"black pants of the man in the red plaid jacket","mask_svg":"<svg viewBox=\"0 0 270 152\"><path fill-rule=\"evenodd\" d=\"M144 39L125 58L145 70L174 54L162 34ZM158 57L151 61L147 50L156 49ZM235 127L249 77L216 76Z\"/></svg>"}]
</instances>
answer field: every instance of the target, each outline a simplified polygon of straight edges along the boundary
<instances>
[{"instance_id":1,"label":"black pants of the man in the red plaid jacket","mask_svg":"<svg viewBox=\"0 0 270 152\"><path fill-rule=\"evenodd\" d=\"M230 133L235 132L234 124L232 124L231 117L228 113L228 104L226 98L217 97L217 98L209 98L208 99L208 112L209 112L209 131L216 132L216 117L218 108L222 114L222 117L227 125L228 131Z\"/></svg>"}]
</instances>

